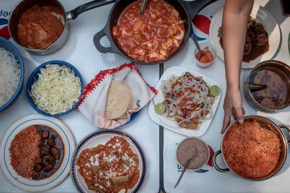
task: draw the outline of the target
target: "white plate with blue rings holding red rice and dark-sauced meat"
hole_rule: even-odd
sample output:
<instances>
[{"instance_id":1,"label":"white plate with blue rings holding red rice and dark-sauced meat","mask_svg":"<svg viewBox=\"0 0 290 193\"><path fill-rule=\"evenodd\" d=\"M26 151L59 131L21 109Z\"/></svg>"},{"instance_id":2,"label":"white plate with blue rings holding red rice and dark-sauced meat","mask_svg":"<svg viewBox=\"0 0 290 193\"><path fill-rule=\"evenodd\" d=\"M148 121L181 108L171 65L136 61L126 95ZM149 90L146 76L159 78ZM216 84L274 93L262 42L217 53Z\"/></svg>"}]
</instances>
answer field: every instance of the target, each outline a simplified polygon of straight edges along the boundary
<instances>
[{"instance_id":1,"label":"white plate with blue rings holding red rice and dark-sauced meat","mask_svg":"<svg viewBox=\"0 0 290 193\"><path fill-rule=\"evenodd\" d=\"M45 191L68 175L74 147L69 128L59 119L27 115L5 132L0 144L0 166L16 187Z\"/></svg>"}]
</instances>

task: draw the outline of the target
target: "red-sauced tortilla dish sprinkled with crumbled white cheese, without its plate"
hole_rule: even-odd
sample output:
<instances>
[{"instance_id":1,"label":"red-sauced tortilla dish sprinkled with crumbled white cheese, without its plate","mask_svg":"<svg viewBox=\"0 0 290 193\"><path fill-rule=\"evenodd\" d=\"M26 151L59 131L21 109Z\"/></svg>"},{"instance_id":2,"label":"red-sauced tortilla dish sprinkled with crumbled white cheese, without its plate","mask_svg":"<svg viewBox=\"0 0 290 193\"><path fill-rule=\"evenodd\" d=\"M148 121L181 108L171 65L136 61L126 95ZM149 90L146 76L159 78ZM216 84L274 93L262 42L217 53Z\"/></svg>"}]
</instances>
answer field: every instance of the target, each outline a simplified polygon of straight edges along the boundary
<instances>
[{"instance_id":1,"label":"red-sauced tortilla dish sprinkled with crumbled white cheese, without its plate","mask_svg":"<svg viewBox=\"0 0 290 193\"><path fill-rule=\"evenodd\" d=\"M126 166L123 161L113 155L122 157L130 163ZM100 192L90 188L95 185L107 193L119 192L122 189L133 188L140 178L139 159L132 151L129 143L122 137L113 137L105 145L99 144L97 147L82 150L76 165L79 166L79 174L85 179L88 188L95 192ZM96 175L92 167L105 166ZM129 181L115 186L112 177L128 175Z\"/></svg>"}]
</instances>

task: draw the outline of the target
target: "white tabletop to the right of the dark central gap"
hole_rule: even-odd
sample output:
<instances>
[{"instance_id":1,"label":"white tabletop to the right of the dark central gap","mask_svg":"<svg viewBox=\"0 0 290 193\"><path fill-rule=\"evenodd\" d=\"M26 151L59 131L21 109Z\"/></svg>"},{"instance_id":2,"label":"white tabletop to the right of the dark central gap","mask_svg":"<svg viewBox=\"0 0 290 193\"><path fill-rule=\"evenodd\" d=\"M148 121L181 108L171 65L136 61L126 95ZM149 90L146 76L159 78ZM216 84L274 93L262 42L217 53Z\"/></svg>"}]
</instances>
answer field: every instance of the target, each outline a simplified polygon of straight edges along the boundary
<instances>
[{"instance_id":1,"label":"white tabletop to the right of the dark central gap","mask_svg":"<svg viewBox=\"0 0 290 193\"><path fill-rule=\"evenodd\" d=\"M282 62L289 64L289 52L288 52L288 34L290 31L290 17L285 17L282 14L282 8L280 1L270 0L263 1L257 0L256 4L262 5L268 11L272 13L272 15L276 18L278 24L280 25L281 33L281 41L278 51L276 55L272 58L275 60L280 60ZM209 5L207 10L203 11L211 13L212 16L222 8L224 5L224 0L219 0L211 5ZM213 12L212 10L216 10ZM203 38L207 38L204 41L209 41L209 37L204 34ZM202 42L199 42L202 43ZM223 123L223 100L226 91L226 80L225 80L225 71L224 71L224 61L220 58L216 58L215 62L209 67L205 69L198 68L195 65L194 59L194 49L195 45L192 40L189 40L189 43L185 46L185 49L179 53L174 59L166 62L164 64L164 71L171 66L181 66L183 68L188 68L193 71L197 71L198 73L204 74L207 77L212 78L214 81L217 81L219 85L221 85L221 101L218 105L218 109L213 117L210 127L206 131L206 133L201 136L208 145L210 145L214 152L220 150L221 148L221 138L222 135L221 127ZM247 76L250 73L250 69L243 69L241 75L241 82L246 81ZM241 85L241 88L242 85ZM243 97L243 107L246 111L246 115L249 114L258 114L266 117L272 117L277 124L285 124L289 125L290 120L290 107L282 110L282 112L276 114L267 114L262 112L257 112L253 109L245 100L245 97L242 93ZM285 133L285 132L284 132ZM289 139L289 135L286 137ZM290 178L290 160L289 157L283 166L282 170L273 178L268 179L262 182L249 182L243 179L238 178L231 172L220 173L216 171L213 167L205 166L204 169L209 170L205 173L196 173L196 172L185 172L181 182L177 186L177 188L173 189L177 179L179 178L181 172L180 167L178 167L178 163L175 160L175 150L176 144L179 143L185 136L170 131L164 128L164 164L163 164L163 173L164 173L164 189L167 193L211 193L211 192L289 192L289 178ZM220 167L224 167L225 165L221 159L221 155L218 155L218 165Z\"/></svg>"}]
</instances>

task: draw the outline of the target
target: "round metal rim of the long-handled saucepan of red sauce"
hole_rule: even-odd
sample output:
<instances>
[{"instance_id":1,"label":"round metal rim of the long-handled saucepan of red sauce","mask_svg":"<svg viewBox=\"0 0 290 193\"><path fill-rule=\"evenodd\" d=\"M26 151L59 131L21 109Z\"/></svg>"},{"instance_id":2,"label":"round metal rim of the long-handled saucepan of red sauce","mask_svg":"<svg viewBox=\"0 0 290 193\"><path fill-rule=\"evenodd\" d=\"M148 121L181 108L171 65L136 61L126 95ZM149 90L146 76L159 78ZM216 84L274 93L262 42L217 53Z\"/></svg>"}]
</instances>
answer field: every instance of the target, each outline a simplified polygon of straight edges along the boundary
<instances>
[{"instance_id":1,"label":"round metal rim of the long-handled saucepan of red sauce","mask_svg":"<svg viewBox=\"0 0 290 193\"><path fill-rule=\"evenodd\" d=\"M61 8L62 8L62 10L63 10L63 12L64 12L64 15L65 15L65 22L64 22L64 28L63 28L63 32L61 33L61 35L59 36L59 38L55 41L55 42L53 42L53 44L51 44L50 46L48 46L47 48L45 48L45 49L32 49L32 48L27 48L27 47L24 47L24 46L22 46L20 43L18 43L18 41L16 41L16 39L14 38L14 36L13 36L13 34L11 33L11 15L12 15L12 13L13 13L13 11L18 7L18 6L20 6L21 5L21 2L23 2L24 0L20 0L19 2L17 2L16 3L16 5L14 5L14 7L13 7L13 9L11 10L11 14L9 15L9 18L8 18L8 31L9 31L9 34L10 34L10 36L11 36L11 38L14 40L14 42L18 45L18 46L20 46L20 47L22 47L22 48L24 48L24 49L27 49L27 50L31 50L31 51L45 51L45 50L48 50L48 49L50 49L58 40L60 40L60 38L63 36L63 33L64 33L64 31L65 31L65 29L66 29L66 26L67 26L67 15L66 15L66 10L65 10L65 8L63 7L63 4L59 1L59 0L55 0L55 1L57 1L58 3L59 3L59 5L61 6Z\"/></svg>"}]
</instances>

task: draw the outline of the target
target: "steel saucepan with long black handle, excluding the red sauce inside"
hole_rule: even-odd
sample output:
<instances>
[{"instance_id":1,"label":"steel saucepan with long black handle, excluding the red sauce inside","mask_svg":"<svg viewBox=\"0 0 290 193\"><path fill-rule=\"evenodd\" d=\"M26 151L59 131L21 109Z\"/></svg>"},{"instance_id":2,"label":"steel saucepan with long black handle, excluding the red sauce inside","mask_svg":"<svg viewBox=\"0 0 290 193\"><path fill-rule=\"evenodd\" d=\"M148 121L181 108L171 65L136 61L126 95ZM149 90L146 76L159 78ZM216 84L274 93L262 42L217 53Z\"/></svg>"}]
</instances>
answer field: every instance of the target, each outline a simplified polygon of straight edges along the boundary
<instances>
[{"instance_id":1,"label":"steel saucepan with long black handle, excluding the red sauce inside","mask_svg":"<svg viewBox=\"0 0 290 193\"><path fill-rule=\"evenodd\" d=\"M93 8L97 8L97 7L100 7L102 5L107 5L109 3L113 3L115 1L116 0L108 0L108 1L107 0L95 0L95 1L92 1L89 3L86 3L84 5L80 5L79 7L75 8L74 10L66 12L63 5L58 0L45 0L45 1L43 1L43 0L41 0L41 1L40 0L21 0L14 6L14 8L12 9L11 14L9 16L9 20L8 20L9 33L10 33L10 36L12 37L12 39L19 46L26 49L28 52L31 52L31 53L36 54L36 55L52 54L52 53L58 51L59 49L61 49L69 37L69 23L67 22L68 20L74 20L79 16L79 14L81 14L85 11L89 11ZM17 28L18 28L19 19L21 18L23 12L25 12L27 9L33 7L34 5L42 5L42 6L54 5L54 6L57 6L63 10L64 15L66 16L64 18L65 19L65 27L64 27L63 33L56 40L56 42L54 42L52 45L50 45L46 49L27 48L27 47L22 46L18 41Z\"/></svg>"}]
</instances>

